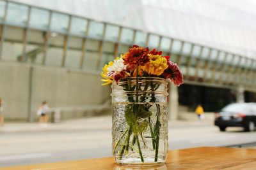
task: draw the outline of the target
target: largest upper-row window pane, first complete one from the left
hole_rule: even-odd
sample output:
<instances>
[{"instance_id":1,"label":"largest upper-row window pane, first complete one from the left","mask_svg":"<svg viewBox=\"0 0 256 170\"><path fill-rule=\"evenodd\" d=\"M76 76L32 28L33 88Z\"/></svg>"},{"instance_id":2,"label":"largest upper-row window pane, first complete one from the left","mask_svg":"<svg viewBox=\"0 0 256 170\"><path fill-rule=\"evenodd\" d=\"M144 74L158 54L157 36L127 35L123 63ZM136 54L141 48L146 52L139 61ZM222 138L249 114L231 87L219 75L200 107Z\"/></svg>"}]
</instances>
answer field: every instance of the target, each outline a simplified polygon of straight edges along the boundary
<instances>
[{"instance_id":1,"label":"largest upper-row window pane, first complete one from the left","mask_svg":"<svg viewBox=\"0 0 256 170\"><path fill-rule=\"evenodd\" d=\"M6 22L15 25L26 25L28 21L28 6L8 3Z\"/></svg>"}]
</instances>

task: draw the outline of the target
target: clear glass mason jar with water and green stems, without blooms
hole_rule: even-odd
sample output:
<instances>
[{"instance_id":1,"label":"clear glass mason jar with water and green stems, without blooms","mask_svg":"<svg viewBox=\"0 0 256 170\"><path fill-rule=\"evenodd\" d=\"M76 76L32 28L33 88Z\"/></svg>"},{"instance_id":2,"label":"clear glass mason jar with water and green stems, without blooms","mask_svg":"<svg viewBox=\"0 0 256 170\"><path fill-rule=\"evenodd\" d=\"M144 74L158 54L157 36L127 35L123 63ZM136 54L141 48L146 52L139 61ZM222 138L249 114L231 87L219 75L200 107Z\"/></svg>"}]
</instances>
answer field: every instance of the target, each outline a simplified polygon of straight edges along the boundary
<instances>
[{"instance_id":1,"label":"clear glass mason jar with water and green stems, without blooms","mask_svg":"<svg viewBox=\"0 0 256 170\"><path fill-rule=\"evenodd\" d=\"M112 87L113 155L118 164L163 164L168 152L168 81L123 78Z\"/></svg>"}]
</instances>

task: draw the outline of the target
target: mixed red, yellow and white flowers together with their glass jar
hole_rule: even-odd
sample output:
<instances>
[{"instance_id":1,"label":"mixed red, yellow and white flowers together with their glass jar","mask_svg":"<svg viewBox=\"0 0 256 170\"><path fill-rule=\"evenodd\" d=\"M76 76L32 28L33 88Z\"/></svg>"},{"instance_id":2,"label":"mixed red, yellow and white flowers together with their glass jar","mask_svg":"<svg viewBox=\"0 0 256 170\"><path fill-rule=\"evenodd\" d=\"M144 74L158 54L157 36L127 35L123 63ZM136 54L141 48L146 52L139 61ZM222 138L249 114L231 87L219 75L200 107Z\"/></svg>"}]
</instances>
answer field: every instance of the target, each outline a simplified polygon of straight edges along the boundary
<instances>
[{"instance_id":1,"label":"mixed red, yellow and white flowers together with their glass jar","mask_svg":"<svg viewBox=\"0 0 256 170\"><path fill-rule=\"evenodd\" d=\"M124 165L161 164L168 152L168 81L182 73L169 56L134 45L102 68L102 85L112 83L113 155Z\"/></svg>"}]
</instances>

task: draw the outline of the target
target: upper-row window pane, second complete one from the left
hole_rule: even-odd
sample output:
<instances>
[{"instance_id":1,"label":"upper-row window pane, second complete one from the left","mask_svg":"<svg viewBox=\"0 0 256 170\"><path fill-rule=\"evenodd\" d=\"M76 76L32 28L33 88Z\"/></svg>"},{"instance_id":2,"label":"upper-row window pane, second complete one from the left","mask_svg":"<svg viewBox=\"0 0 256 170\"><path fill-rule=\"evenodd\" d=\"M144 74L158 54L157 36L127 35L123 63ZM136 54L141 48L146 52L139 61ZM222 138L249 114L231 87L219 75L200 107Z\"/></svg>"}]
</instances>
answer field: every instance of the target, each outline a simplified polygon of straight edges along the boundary
<instances>
[{"instance_id":1,"label":"upper-row window pane, second complete one from the left","mask_svg":"<svg viewBox=\"0 0 256 170\"><path fill-rule=\"evenodd\" d=\"M38 29L47 29L49 23L49 16L49 11L32 8L29 25Z\"/></svg>"}]
</instances>

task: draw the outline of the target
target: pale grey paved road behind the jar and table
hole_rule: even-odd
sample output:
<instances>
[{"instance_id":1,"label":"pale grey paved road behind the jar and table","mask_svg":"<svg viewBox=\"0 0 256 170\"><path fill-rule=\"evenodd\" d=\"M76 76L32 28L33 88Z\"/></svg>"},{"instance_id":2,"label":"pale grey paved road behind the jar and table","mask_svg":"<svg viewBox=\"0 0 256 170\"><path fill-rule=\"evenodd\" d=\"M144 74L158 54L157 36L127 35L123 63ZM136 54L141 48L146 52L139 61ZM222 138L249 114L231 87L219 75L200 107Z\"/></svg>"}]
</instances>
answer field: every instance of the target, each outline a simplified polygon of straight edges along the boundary
<instances>
[{"instance_id":1,"label":"pale grey paved road behind the jar and table","mask_svg":"<svg viewBox=\"0 0 256 170\"><path fill-rule=\"evenodd\" d=\"M219 132L207 122L170 122L170 149L255 142L256 132ZM73 120L41 127L0 127L0 167L111 156L111 117Z\"/></svg>"}]
</instances>

